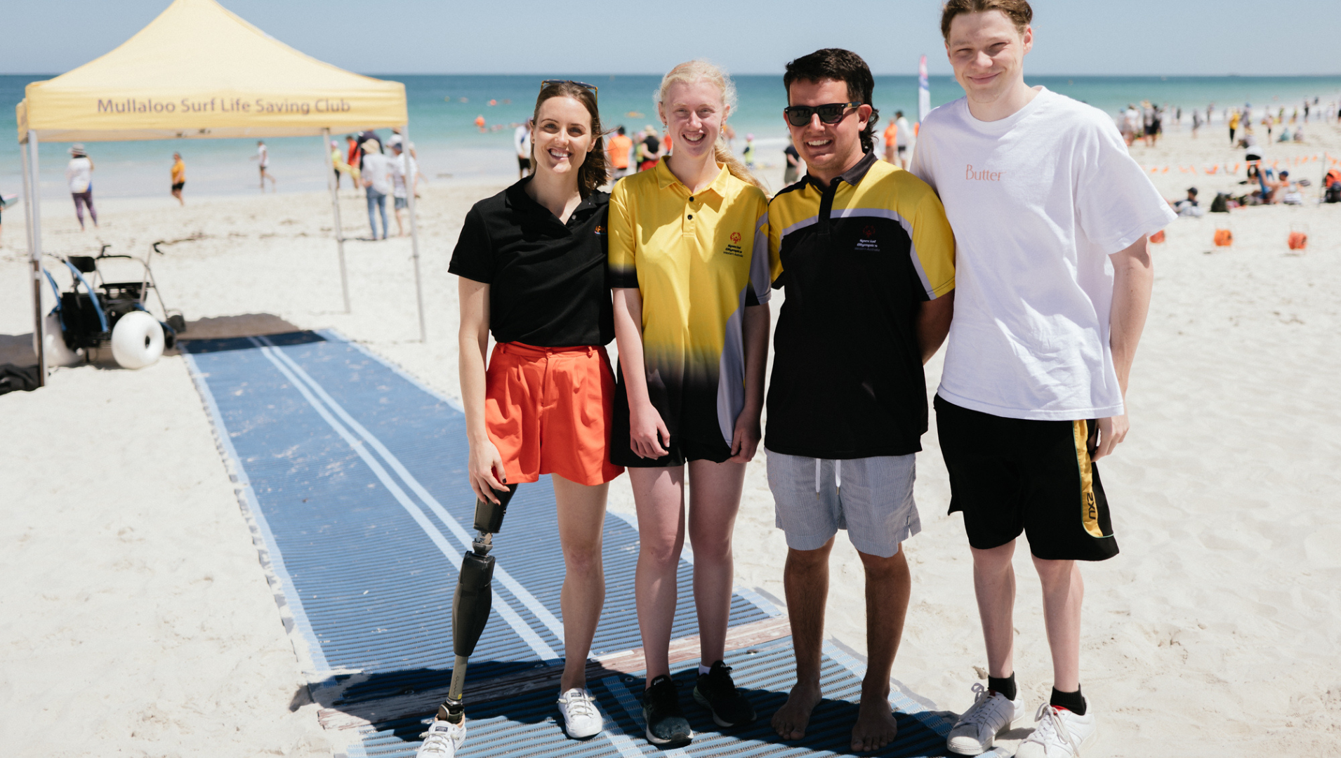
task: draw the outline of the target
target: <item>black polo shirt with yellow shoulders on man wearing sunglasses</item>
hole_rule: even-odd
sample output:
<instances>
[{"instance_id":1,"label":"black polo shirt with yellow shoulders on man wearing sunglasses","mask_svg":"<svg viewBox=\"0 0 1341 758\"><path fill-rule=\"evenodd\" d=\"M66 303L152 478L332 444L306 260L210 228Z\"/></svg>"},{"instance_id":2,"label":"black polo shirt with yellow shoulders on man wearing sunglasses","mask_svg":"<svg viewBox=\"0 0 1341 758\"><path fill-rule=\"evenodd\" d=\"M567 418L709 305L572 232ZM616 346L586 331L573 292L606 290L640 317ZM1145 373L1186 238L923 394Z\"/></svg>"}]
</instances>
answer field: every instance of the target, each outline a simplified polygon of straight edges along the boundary
<instances>
[{"instance_id":1,"label":"black polo shirt with yellow shoulders on man wearing sunglasses","mask_svg":"<svg viewBox=\"0 0 1341 758\"><path fill-rule=\"evenodd\" d=\"M768 258L786 299L764 445L823 459L920 451L917 313L955 288L955 236L936 193L874 153L827 188L806 174L768 204Z\"/></svg>"}]
</instances>

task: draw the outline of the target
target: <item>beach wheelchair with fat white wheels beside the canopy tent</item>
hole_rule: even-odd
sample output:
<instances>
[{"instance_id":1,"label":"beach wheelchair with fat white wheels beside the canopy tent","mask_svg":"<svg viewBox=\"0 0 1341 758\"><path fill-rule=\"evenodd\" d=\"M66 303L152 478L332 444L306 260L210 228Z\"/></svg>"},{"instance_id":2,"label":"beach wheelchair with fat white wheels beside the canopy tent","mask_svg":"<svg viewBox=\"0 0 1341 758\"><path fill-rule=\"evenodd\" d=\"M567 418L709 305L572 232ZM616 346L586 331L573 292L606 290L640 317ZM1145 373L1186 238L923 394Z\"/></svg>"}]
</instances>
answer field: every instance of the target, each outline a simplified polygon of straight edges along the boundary
<instances>
[{"instance_id":1,"label":"beach wheelchair with fat white wheels beside the canopy tent","mask_svg":"<svg viewBox=\"0 0 1341 758\"><path fill-rule=\"evenodd\" d=\"M154 243L158 255L162 251ZM56 258L70 270L70 290L62 292L55 276L43 270L56 294L56 307L47 315L47 350L52 365L74 365L90 360L94 350L111 347L111 357L125 369L142 369L172 347L177 335L186 330L186 318L169 310L158 292L153 268L148 258L109 255L110 244L102 246L97 256L70 255ZM102 271L110 260L139 263L138 280L109 280ZM145 307L153 290L165 321ZM56 338L56 334L60 338Z\"/></svg>"}]
</instances>

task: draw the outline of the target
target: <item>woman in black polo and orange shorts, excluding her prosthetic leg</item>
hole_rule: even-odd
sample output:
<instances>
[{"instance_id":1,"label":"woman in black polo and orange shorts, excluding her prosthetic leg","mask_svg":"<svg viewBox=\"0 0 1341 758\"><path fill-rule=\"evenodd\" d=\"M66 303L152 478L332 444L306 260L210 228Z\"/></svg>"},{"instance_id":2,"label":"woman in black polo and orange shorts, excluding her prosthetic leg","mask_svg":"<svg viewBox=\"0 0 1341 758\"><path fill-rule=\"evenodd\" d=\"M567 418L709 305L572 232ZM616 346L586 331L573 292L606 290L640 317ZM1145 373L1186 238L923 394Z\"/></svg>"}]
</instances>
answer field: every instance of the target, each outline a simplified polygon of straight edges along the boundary
<instances>
[{"instance_id":1,"label":"woman in black polo and orange shorts, excluding her prosthetic leg","mask_svg":"<svg viewBox=\"0 0 1341 758\"><path fill-rule=\"evenodd\" d=\"M610 196L595 87L544 82L535 101L534 174L471 208L452 254L460 276L461 398L471 487L554 475L565 567L559 710L570 737L601 731L586 657L605 602L601 530L610 463L614 338L606 278ZM484 368L489 331L498 342ZM432 734L432 733L430 733Z\"/></svg>"}]
</instances>

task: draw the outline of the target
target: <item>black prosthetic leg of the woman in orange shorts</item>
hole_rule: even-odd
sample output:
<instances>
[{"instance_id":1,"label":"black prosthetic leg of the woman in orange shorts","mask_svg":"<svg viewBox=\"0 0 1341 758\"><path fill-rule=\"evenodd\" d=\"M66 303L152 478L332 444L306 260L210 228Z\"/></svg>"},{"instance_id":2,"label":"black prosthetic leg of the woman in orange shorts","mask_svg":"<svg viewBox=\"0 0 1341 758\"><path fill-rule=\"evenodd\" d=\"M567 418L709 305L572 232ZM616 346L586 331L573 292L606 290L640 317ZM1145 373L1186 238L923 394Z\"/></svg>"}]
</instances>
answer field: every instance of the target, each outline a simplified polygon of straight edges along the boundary
<instances>
[{"instance_id":1,"label":"black prosthetic leg of the woman in orange shorts","mask_svg":"<svg viewBox=\"0 0 1341 758\"><path fill-rule=\"evenodd\" d=\"M484 624L489 620L489 609L493 604L493 534L502 531L503 517L507 514L507 504L516 492L516 484L510 484L506 491L496 491L499 502L493 504L488 500L475 502L475 531L479 537L471 543L471 551L461 558L461 574L456 585L456 598L452 601L452 644L456 652L456 664L452 665L452 686L447 692L447 702L439 706L437 719L463 726L465 720L465 703L463 690L465 687L465 667L469 663L475 645L484 633Z\"/></svg>"}]
</instances>

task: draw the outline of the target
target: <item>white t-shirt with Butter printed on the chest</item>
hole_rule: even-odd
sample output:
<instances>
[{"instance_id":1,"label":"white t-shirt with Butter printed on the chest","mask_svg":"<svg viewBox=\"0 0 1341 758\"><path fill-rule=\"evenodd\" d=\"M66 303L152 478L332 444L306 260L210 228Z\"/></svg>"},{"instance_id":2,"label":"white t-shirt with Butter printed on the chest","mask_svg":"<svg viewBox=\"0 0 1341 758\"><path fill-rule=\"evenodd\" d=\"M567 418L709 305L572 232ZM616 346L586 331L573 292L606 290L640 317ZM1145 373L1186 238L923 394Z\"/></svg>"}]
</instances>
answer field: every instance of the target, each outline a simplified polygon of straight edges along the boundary
<instances>
[{"instance_id":1,"label":"white t-shirt with Butter printed on the chest","mask_svg":"<svg viewBox=\"0 0 1341 758\"><path fill-rule=\"evenodd\" d=\"M940 195L955 231L937 394L1008 419L1121 415L1108 256L1176 216L1112 119L1042 87L991 122L960 98L923 121L911 170Z\"/></svg>"}]
</instances>

